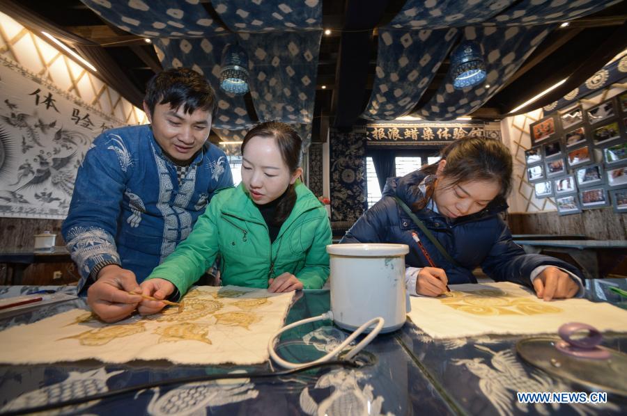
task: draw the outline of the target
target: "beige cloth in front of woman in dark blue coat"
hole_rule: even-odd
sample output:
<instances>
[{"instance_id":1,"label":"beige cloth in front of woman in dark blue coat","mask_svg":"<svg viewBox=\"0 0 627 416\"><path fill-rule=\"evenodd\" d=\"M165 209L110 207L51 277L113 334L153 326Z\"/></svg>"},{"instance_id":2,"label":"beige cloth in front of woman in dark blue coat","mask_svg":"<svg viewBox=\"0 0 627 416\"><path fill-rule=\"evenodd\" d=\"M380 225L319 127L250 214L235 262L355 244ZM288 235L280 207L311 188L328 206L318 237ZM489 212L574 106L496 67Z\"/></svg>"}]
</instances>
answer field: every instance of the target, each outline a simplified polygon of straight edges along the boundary
<instances>
[{"instance_id":1,"label":"beige cloth in front of woman in dark blue coat","mask_svg":"<svg viewBox=\"0 0 627 416\"><path fill-rule=\"evenodd\" d=\"M587 299L545 302L510 282L450 285L450 293L412 296L413 323L435 339L479 335L557 334L563 323L582 322L601 331L627 332L627 311Z\"/></svg>"}]
</instances>

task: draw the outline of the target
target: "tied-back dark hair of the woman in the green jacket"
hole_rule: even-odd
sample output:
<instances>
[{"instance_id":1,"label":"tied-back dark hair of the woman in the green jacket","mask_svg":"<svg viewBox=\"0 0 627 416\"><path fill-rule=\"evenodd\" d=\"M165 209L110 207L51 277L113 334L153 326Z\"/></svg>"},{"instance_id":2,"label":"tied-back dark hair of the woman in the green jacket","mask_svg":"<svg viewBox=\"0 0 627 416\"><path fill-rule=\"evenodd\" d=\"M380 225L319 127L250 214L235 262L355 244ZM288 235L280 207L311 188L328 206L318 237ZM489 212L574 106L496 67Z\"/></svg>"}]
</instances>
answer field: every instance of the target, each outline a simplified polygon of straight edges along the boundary
<instances>
[{"instance_id":1,"label":"tied-back dark hair of the woman in the green jacket","mask_svg":"<svg viewBox=\"0 0 627 416\"><path fill-rule=\"evenodd\" d=\"M294 173L297 168L300 166L301 162L301 149L302 149L302 139L298 135L298 133L290 127L282 122L269 121L263 122L261 124L256 125L246 134L244 140L242 141L242 154L244 154L244 148L247 143L253 137L265 137L265 138L274 138L279 147L279 152L281 152L281 159L285 162L288 167L290 173ZM279 225L284 223L284 221L290 216L294 205L296 204L296 189L295 183L290 184L288 189L286 190L286 195L277 205L277 210L274 214L274 224Z\"/></svg>"}]
</instances>

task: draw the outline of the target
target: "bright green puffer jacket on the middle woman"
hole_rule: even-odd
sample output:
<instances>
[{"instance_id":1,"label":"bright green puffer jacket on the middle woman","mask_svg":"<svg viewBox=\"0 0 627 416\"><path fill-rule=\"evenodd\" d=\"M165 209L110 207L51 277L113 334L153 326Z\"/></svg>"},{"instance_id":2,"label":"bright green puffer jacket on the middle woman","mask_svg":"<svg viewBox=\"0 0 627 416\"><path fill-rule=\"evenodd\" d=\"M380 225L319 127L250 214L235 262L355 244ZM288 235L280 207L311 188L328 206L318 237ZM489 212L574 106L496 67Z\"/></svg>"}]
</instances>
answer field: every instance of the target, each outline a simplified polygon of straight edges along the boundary
<instances>
[{"instance_id":1,"label":"bright green puffer jacket on the middle woman","mask_svg":"<svg viewBox=\"0 0 627 416\"><path fill-rule=\"evenodd\" d=\"M330 243L327 211L300 180L296 204L272 244L261 212L240 184L212 198L189 237L147 280L169 280L183 295L221 253L224 285L267 288L274 264L275 276L289 272L304 289L320 289L329 276L326 246Z\"/></svg>"}]
</instances>

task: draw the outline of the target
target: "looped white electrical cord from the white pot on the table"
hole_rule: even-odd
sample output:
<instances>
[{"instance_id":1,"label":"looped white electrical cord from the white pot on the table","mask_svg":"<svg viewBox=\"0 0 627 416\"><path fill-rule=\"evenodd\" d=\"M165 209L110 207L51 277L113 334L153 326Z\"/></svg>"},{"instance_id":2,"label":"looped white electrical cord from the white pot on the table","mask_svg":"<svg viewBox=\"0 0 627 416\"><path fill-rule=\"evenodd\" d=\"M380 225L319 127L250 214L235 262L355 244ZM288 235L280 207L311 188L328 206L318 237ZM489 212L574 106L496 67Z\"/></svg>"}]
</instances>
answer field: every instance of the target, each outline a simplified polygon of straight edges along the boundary
<instances>
[{"instance_id":1,"label":"looped white electrical cord from the white pot on the table","mask_svg":"<svg viewBox=\"0 0 627 416\"><path fill-rule=\"evenodd\" d=\"M366 335L364 339L362 339L357 345L353 347L353 349L350 350L349 353L346 354L346 357L344 358L346 358L346 360L350 360L350 358L353 358L355 355L357 355L359 351L362 351L362 349L364 349L366 345L370 344L370 342L374 339L374 337L376 337L380 333L380 330L383 328L383 325L385 323L385 320L382 317L376 317L376 318L371 319L370 321L367 321L362 326L357 328L355 332L350 334L350 336L346 338L344 342L339 344L339 346L337 346L336 349L334 349L333 351L331 351L324 357L318 358L318 360L314 360L311 362L299 362L299 363L289 362L279 357L277 352L274 351L274 344L275 344L277 337L279 337L279 335L284 333L286 330L302 325L303 323L316 322L316 321L321 321L323 319L333 320L333 312L329 311L329 312L319 315L318 317L302 319L300 321L290 323L288 326L284 326L283 328L281 328L281 330L275 333L272 336L272 338L270 338L270 341L268 342L268 352L270 353L270 357L272 357L272 360L274 360L274 362L276 362L281 367L291 368L291 369L296 369L296 368L304 367L306 365L311 365L311 364L318 364L319 362L329 361L332 358L335 358L344 349L344 347L346 347L348 344L353 342L353 339L361 335L364 332L364 330L366 330L367 328L369 328L370 326L376 323L376 326L373 328L371 333Z\"/></svg>"}]
</instances>

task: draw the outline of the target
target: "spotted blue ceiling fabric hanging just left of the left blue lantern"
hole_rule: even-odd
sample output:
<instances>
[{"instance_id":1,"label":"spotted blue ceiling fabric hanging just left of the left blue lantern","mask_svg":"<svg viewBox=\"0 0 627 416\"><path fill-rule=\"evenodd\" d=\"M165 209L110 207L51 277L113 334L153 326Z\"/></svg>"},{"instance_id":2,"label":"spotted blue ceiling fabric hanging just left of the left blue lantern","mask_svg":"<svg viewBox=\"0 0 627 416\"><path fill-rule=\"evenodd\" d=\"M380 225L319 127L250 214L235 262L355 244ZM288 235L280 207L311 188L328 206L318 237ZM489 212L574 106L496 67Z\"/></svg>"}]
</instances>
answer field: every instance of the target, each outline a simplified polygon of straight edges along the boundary
<instances>
[{"instance_id":1,"label":"spotted blue ceiling fabric hanging just left of the left blue lantern","mask_svg":"<svg viewBox=\"0 0 627 416\"><path fill-rule=\"evenodd\" d=\"M203 74L214 87L218 109L213 126L218 129L239 130L254 123L246 111L242 95L229 95L219 88L222 49L229 42L237 42L233 33L211 38L155 39L153 44L164 68L191 67Z\"/></svg>"}]
</instances>

